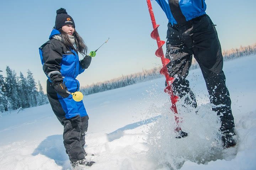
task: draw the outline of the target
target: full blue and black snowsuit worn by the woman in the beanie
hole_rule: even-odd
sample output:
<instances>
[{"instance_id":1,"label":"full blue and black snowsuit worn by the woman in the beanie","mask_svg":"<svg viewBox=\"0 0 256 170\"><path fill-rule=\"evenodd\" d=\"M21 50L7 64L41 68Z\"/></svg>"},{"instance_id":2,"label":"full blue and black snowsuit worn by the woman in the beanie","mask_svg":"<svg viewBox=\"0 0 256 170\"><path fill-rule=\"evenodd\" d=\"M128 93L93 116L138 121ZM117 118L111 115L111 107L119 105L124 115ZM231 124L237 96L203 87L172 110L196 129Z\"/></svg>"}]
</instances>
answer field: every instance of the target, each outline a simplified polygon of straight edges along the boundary
<instances>
[{"instance_id":1,"label":"full blue and black snowsuit worn by the woman in the beanie","mask_svg":"<svg viewBox=\"0 0 256 170\"><path fill-rule=\"evenodd\" d=\"M63 139L66 153L72 162L85 157L85 132L88 128L88 115L84 103L76 102L72 95L61 97L54 90L53 83L61 81L69 92L79 91L79 82L76 77L84 72L82 60L79 61L75 50L67 48L53 35L60 34L56 29L52 30L49 41L39 48L43 71L47 75L47 96L53 112L64 126Z\"/></svg>"}]
</instances>

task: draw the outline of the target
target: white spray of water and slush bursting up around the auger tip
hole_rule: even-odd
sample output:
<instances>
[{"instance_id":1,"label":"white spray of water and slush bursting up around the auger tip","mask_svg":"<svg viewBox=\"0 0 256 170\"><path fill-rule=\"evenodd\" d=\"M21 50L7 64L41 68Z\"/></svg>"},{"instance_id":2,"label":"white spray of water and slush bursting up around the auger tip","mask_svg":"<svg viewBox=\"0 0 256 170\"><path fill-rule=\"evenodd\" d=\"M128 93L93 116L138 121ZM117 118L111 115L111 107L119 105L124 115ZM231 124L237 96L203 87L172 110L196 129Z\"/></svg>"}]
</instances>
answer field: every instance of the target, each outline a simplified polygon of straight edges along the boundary
<instances>
[{"instance_id":1,"label":"white spray of water and slush bursting up around the auger tip","mask_svg":"<svg viewBox=\"0 0 256 170\"><path fill-rule=\"evenodd\" d=\"M152 91L150 95L151 98L155 98ZM202 104L195 109L190 106L183 107L182 99L177 102L178 113L182 118L180 127L188 133L187 137L181 139L175 138L176 122L170 104L168 102L160 107L152 104L147 110L149 117L158 115L158 119L148 125L146 139L149 147L148 155L150 159L156 161L156 169L162 166L174 170L180 169L187 160L207 164L211 160L222 159L220 118L211 110L210 103Z\"/></svg>"}]
</instances>

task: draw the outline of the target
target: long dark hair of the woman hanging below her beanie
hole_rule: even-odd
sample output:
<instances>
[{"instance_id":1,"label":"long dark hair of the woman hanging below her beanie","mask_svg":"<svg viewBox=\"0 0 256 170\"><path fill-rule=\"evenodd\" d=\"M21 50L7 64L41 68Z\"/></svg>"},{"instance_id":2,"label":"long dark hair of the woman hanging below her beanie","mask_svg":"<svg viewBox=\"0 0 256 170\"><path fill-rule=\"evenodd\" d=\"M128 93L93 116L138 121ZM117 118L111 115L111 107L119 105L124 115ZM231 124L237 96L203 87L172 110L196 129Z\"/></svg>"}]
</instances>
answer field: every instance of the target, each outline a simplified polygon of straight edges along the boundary
<instances>
[{"instance_id":1,"label":"long dark hair of the woman hanging below her beanie","mask_svg":"<svg viewBox=\"0 0 256 170\"><path fill-rule=\"evenodd\" d=\"M64 44L68 48L72 48L76 52L80 52L83 56L87 54L87 46L84 44L84 40L81 38L81 36L74 30L73 36L75 37L75 46L70 42L68 34L65 33L62 28L58 29L60 34L63 37Z\"/></svg>"}]
</instances>

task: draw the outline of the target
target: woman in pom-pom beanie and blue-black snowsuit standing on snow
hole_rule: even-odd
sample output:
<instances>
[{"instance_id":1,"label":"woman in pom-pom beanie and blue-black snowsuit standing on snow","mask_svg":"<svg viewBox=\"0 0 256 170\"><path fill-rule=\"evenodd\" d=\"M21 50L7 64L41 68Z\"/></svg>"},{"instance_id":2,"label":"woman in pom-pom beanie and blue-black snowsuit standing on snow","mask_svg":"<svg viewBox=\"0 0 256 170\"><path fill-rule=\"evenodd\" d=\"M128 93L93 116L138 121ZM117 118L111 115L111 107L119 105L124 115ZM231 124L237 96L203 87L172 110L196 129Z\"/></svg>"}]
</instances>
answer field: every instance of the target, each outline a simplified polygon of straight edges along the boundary
<instances>
[{"instance_id":1,"label":"woman in pom-pom beanie and blue-black snowsuit standing on snow","mask_svg":"<svg viewBox=\"0 0 256 170\"><path fill-rule=\"evenodd\" d=\"M85 57L79 61L78 52ZM75 23L64 8L57 10L55 26L49 41L39 48L43 71L47 75L47 96L53 112L64 126L63 139L66 153L73 167L91 166L85 160L85 132L88 115L82 101L73 100L69 92L79 91L78 74L91 63L87 47L75 30Z\"/></svg>"}]
</instances>

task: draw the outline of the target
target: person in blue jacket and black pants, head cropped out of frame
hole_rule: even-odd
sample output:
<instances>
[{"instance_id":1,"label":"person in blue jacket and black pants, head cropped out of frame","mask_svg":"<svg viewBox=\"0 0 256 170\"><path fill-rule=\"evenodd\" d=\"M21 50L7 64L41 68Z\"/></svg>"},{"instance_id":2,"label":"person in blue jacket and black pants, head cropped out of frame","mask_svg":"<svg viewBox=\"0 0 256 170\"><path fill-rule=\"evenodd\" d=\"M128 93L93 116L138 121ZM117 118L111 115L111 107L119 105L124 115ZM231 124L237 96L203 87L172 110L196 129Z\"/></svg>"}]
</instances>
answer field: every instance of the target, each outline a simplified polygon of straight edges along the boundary
<instances>
[{"instance_id":1,"label":"person in blue jacket and black pants, head cropped out of frame","mask_svg":"<svg viewBox=\"0 0 256 170\"><path fill-rule=\"evenodd\" d=\"M223 56L215 25L206 15L205 0L155 0L169 19L166 58L169 74L175 78L174 93L185 97L186 104L197 107L196 99L185 78L192 62L197 60L210 95L213 111L220 115L224 147L235 146L234 117L231 100L225 84ZM187 96L187 97L186 97ZM188 97L189 96L189 97Z\"/></svg>"}]
</instances>

